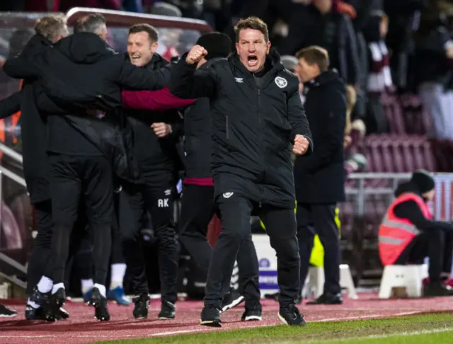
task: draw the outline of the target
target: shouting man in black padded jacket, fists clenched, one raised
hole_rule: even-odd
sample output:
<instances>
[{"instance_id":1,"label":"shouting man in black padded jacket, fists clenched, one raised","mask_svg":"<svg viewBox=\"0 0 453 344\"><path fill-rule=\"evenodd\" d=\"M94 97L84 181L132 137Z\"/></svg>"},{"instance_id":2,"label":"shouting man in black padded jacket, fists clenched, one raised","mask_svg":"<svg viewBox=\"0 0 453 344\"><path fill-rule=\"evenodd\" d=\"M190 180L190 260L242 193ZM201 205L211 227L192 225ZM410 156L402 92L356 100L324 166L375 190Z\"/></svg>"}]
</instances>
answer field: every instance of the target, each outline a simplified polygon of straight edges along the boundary
<instances>
[{"instance_id":1,"label":"shouting man in black padded jacket, fists clenched, one raised","mask_svg":"<svg viewBox=\"0 0 453 344\"><path fill-rule=\"evenodd\" d=\"M312 144L299 81L285 70L277 52L270 52L268 28L259 18L236 25L236 50L207 71L195 72L196 64L208 54L195 45L171 69L171 93L211 101L214 197L222 232L210 262L202 324L220 325L222 285L231 277L239 247L250 235L251 212L258 208L277 252L279 318L304 325L294 304L299 249L290 143L295 154L305 154Z\"/></svg>"}]
</instances>

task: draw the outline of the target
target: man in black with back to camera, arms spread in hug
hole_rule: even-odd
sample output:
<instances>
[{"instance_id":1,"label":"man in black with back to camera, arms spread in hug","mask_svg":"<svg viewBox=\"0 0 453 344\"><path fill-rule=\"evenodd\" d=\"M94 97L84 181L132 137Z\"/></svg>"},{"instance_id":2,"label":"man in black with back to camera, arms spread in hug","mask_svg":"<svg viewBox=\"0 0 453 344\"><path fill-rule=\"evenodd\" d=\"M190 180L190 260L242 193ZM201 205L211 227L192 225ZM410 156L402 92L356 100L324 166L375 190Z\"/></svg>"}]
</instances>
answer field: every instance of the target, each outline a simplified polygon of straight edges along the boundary
<instances>
[{"instance_id":1,"label":"man in black with back to camera, arms spread in hug","mask_svg":"<svg viewBox=\"0 0 453 344\"><path fill-rule=\"evenodd\" d=\"M115 144L124 146L117 142L121 139L117 126L98 120L96 109L112 110L119 105L121 86L152 90L162 88L167 82L166 73L138 69L125 62L122 55L115 55L105 42L106 36L103 16L89 15L76 23L74 35L59 40L54 47L40 54L25 47L20 56L4 64L9 76L38 77L42 85L42 90L36 92L38 107L52 113L47 118L55 224L51 256L54 285L49 319L54 319L57 309L64 304L64 267L82 195L94 235L95 285L90 304L95 307L99 320L110 319L105 278L114 218L112 164L126 165L127 169L127 161L115 151ZM94 110L86 110L80 104L94 105Z\"/></svg>"}]
</instances>

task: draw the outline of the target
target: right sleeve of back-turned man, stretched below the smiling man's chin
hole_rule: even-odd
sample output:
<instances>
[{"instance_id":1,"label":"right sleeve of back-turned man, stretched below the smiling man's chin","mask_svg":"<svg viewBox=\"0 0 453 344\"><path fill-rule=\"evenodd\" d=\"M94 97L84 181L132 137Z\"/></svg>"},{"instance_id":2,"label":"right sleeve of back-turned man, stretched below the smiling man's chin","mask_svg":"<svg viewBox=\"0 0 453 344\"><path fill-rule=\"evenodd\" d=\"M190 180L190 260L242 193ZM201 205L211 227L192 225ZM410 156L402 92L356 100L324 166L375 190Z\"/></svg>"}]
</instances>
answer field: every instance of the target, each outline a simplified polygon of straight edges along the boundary
<instances>
[{"instance_id":1,"label":"right sleeve of back-turned man, stretched below the smiling man's chin","mask_svg":"<svg viewBox=\"0 0 453 344\"><path fill-rule=\"evenodd\" d=\"M151 71L146 68L135 67L130 62L124 60L120 55L113 57L119 59L121 63L120 72L115 80L117 84L125 88L135 90L156 91L168 86L170 81L170 67L164 67Z\"/></svg>"}]
</instances>

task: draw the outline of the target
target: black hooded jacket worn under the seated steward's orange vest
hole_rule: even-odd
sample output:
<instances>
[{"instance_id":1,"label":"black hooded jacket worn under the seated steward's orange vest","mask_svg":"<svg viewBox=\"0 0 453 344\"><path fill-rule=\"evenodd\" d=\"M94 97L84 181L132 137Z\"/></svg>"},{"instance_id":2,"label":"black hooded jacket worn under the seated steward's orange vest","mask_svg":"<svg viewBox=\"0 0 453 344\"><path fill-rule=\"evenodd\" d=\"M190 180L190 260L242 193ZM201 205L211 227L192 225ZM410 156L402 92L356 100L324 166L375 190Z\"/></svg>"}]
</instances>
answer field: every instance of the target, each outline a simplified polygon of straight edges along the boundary
<instances>
[{"instance_id":1,"label":"black hooded jacket worn under the seated steward's orange vest","mask_svg":"<svg viewBox=\"0 0 453 344\"><path fill-rule=\"evenodd\" d=\"M415 193L420 195L417 185L411 182L401 183L395 190L395 197L403 193ZM418 207L417 203L413 200L407 200L394 207L394 214L400 219L408 219L420 231L429 231L431 229L440 229L443 231L453 231L453 225L450 222L442 222L430 220L423 215L422 210Z\"/></svg>"}]
</instances>

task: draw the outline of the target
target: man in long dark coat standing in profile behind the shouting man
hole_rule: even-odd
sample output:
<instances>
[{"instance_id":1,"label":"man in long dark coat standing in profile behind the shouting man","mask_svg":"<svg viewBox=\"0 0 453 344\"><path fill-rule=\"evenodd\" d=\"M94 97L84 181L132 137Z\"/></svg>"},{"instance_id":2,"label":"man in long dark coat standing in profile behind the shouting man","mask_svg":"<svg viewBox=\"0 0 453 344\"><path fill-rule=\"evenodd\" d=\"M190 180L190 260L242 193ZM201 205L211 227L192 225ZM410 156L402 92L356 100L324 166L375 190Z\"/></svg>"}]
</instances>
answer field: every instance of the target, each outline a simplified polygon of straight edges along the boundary
<instances>
[{"instance_id":1,"label":"man in long dark coat standing in profile behind the shouting man","mask_svg":"<svg viewBox=\"0 0 453 344\"><path fill-rule=\"evenodd\" d=\"M328 53L311 46L297 52L299 78L306 93L304 107L316 151L297 157L294 180L297 199L297 237L301 259L301 288L309 269L314 236L324 247L324 292L316 304L341 304L340 242L335 222L337 202L345 200L343 141L346 88L336 70L328 69ZM328 100L328 101L326 101Z\"/></svg>"}]
</instances>

